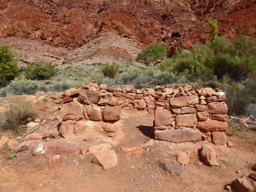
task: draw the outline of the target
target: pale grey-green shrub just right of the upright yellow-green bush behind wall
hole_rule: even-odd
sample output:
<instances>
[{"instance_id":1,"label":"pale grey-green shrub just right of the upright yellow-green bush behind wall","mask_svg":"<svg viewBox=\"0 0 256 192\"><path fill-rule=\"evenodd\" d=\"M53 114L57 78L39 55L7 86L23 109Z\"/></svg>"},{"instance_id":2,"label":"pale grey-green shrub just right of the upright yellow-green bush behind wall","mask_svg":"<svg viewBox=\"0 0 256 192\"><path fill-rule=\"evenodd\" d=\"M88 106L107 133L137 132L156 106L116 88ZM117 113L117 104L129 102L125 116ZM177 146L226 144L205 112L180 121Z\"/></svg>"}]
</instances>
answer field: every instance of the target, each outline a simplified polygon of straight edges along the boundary
<instances>
[{"instance_id":1,"label":"pale grey-green shrub just right of the upright yellow-green bush behind wall","mask_svg":"<svg viewBox=\"0 0 256 192\"><path fill-rule=\"evenodd\" d=\"M120 75L120 80L123 84L132 84L133 80L142 73L142 70L135 67L130 67Z\"/></svg>"}]
</instances>

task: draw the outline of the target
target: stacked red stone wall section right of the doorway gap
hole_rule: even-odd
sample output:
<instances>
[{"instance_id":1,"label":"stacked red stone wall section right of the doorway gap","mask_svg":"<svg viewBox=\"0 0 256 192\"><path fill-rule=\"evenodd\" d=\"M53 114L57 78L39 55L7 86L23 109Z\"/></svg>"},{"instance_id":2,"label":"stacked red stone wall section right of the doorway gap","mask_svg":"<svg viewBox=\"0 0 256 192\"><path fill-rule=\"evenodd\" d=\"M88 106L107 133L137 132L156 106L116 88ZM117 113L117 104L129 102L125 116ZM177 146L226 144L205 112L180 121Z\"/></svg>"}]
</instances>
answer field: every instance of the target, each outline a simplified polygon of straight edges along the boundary
<instances>
[{"instance_id":1,"label":"stacked red stone wall section right of the doorway gap","mask_svg":"<svg viewBox=\"0 0 256 192\"><path fill-rule=\"evenodd\" d=\"M174 143L202 139L225 145L228 108L224 103L225 94L218 91L211 88L180 89L179 93L171 95L168 105L156 106L155 139Z\"/></svg>"}]
</instances>

